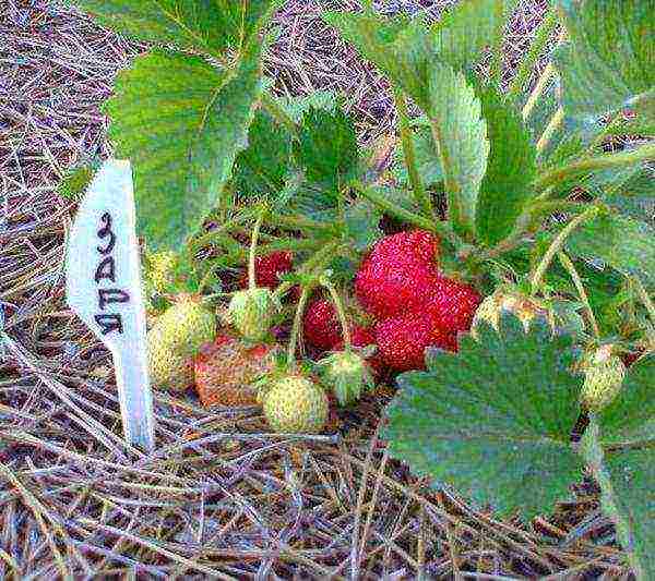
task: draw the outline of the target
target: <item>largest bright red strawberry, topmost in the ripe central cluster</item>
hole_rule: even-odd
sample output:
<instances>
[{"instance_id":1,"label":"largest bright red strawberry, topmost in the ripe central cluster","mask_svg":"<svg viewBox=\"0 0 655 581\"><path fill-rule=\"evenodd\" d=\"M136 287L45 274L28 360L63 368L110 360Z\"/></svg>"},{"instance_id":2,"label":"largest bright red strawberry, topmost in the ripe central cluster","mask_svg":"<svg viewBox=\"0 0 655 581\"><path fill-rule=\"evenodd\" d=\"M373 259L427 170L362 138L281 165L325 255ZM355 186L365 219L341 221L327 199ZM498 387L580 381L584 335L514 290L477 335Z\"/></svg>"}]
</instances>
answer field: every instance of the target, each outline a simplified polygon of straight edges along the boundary
<instances>
[{"instance_id":1,"label":"largest bright red strawberry, topmost in the ripe central cluster","mask_svg":"<svg viewBox=\"0 0 655 581\"><path fill-rule=\"evenodd\" d=\"M383 238L359 267L357 299L380 319L421 308L439 278L436 253L437 239L422 230Z\"/></svg>"}]
</instances>

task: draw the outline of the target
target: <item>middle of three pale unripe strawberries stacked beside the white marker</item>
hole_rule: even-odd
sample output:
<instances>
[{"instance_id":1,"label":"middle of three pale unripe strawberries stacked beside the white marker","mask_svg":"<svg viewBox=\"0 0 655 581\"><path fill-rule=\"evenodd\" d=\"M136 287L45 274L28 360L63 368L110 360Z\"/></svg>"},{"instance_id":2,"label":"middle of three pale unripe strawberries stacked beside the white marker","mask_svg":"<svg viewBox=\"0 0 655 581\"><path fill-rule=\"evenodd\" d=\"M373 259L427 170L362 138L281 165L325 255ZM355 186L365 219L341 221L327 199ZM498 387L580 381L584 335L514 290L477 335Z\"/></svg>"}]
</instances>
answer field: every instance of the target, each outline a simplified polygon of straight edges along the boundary
<instances>
[{"instance_id":1,"label":"middle of three pale unripe strawberries stacked beside the white marker","mask_svg":"<svg viewBox=\"0 0 655 581\"><path fill-rule=\"evenodd\" d=\"M203 343L216 336L216 317L192 295L181 295L157 317L148 332L148 342L162 341L183 356L196 353Z\"/></svg>"}]
</instances>

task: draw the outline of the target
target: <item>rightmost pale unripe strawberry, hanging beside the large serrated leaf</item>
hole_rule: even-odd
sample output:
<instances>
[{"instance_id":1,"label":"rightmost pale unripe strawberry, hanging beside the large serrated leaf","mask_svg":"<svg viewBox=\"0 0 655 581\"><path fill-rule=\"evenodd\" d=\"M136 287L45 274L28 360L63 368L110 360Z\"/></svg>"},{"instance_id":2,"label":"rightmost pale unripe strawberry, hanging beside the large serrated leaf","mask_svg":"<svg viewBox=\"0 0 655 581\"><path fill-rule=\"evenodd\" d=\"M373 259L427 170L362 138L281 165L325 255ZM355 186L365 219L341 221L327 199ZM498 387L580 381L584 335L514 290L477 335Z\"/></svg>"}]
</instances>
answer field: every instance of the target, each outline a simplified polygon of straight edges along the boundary
<instances>
[{"instance_id":1,"label":"rightmost pale unripe strawberry, hanging beside the large serrated leaf","mask_svg":"<svg viewBox=\"0 0 655 581\"><path fill-rule=\"evenodd\" d=\"M583 364L584 384L580 401L587 410L597 412L610 403L621 391L626 365L612 354L612 346L605 344Z\"/></svg>"}]
</instances>

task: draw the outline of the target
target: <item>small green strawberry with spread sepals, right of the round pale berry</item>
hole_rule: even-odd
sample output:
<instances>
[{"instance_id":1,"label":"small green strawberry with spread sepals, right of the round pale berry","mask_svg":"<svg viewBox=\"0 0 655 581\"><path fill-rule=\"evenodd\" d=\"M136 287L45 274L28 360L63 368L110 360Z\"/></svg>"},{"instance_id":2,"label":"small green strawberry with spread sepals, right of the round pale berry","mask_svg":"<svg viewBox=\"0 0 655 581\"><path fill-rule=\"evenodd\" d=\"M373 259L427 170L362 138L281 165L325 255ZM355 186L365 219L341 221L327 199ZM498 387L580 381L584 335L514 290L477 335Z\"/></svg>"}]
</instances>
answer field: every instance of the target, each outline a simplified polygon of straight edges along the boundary
<instances>
[{"instance_id":1,"label":"small green strawberry with spread sepals, right of the round pale berry","mask_svg":"<svg viewBox=\"0 0 655 581\"><path fill-rule=\"evenodd\" d=\"M368 362L354 351L338 351L320 361L323 385L332 389L341 406L356 402L365 389L374 387Z\"/></svg>"}]
</instances>

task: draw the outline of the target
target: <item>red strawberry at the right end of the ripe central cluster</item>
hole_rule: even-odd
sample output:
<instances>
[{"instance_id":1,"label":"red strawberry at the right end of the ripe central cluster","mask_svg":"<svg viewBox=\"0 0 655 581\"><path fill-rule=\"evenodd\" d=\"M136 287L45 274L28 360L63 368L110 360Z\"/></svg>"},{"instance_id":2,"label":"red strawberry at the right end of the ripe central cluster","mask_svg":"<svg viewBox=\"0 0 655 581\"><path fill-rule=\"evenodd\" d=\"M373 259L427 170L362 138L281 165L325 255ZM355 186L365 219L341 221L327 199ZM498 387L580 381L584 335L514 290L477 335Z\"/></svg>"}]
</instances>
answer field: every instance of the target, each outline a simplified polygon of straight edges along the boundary
<instances>
[{"instance_id":1,"label":"red strawberry at the right end of the ripe central cluster","mask_svg":"<svg viewBox=\"0 0 655 581\"><path fill-rule=\"evenodd\" d=\"M457 334L471 329L481 301L473 287L451 278L440 278L434 283L427 310L444 331Z\"/></svg>"}]
</instances>

